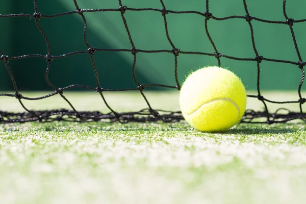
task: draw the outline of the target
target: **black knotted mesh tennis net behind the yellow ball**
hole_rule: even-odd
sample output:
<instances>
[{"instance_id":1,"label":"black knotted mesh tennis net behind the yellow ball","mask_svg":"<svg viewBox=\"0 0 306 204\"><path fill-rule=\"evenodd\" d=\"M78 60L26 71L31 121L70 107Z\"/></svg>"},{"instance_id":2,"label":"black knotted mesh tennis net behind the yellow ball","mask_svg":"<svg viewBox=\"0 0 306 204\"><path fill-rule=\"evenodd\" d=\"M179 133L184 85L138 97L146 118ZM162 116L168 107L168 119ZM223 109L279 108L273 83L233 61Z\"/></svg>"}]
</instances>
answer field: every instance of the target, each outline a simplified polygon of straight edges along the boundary
<instances>
[{"instance_id":1,"label":"black knotted mesh tennis net behind the yellow ball","mask_svg":"<svg viewBox=\"0 0 306 204\"><path fill-rule=\"evenodd\" d=\"M47 45L47 53L46 55L40 55L40 54L28 54L28 55L23 55L23 56L8 56L6 55L6 53L3 52L3 50L0 49L0 61L2 61L5 64L5 67L10 75L13 87L14 87L14 92L15 94L9 94L9 93L0 93L1 97L15 97L16 100L19 100L20 105L23 107L24 112L20 112L20 113L15 113L15 112L6 112L6 111L1 111L0 110L0 123L13 123L13 122L28 122L28 121L40 121L40 122L48 122L48 121L56 121L56 120L65 120L65 121L78 121L78 122L82 122L82 121L119 121L119 122L132 122L132 121L137 121L137 122L145 122L145 121L164 121L164 122L175 122L175 121L180 121L183 120L183 116L181 114L181 112L172 112L172 111L165 111L165 110L155 110L152 109L152 107L150 106L150 102L147 99L146 95L144 94L144 90L147 87L164 87L164 88L169 88L169 89L177 89L180 90L180 83L179 80L177 78L177 58L179 58L179 55L204 55L204 56L211 56L216 58L217 64L218 66L221 66L221 58L228 58L228 59L232 59L232 60L242 60L242 61L254 61L255 63L257 63L257 95L248 95L248 97L252 97L252 98L257 98L258 100L260 100L265 109L264 111L253 111L253 110L246 110L245 115L243 117L243 119L241 120L241 122L247 122L247 123L255 123L255 122L262 122L262 123L276 123L276 122L287 122L287 121L291 121L291 120L295 120L295 119L301 119L304 120L305 119L305 115L303 114L302 111L302 104L305 103L306 99L302 97L301 95L301 87L304 81L304 69L303 66L305 66L306 62L302 61L302 58L300 56L300 52L298 49L298 45L295 39L295 34L294 34L294 30L293 30L293 24L294 23L299 23L299 22L304 22L306 21L306 19L301 19L301 20L294 20L292 18L289 18L286 14L286 1L284 0L283 2L283 12L284 12L284 16L285 16L285 21L270 21L270 20L264 20L264 19L260 19L254 16L250 16L248 13L248 7L246 4L246 1L243 1L244 4L244 9L245 9L245 16L227 16L227 17L223 17L223 18L218 18L216 16L214 16L212 13L209 12L209 1L206 1L206 12L205 13L201 13L201 12L197 12L197 11L171 11L171 10L167 10L163 0L160 0L161 3L161 9L154 9L154 8L129 8L128 6L124 6L121 3L121 0L118 1L118 6L119 8L113 8L113 9L82 9L78 6L78 1L77 0L73 0L74 5L75 5L75 10L74 11L70 11L70 12L65 12L65 13L59 13L56 15L44 15L43 13L40 13L37 9L36 6L36 0L34 0L34 9L35 9L35 13L34 14L10 14L10 15L2 15L0 14L0 18L9 18L9 17L30 17L30 18L34 18L37 28L40 31L41 35L43 36L43 38L45 39L46 45ZM84 13L86 12L120 12L121 13L121 17L122 17L122 21L124 23L124 27L126 29L126 35L129 37L130 43L131 43L131 49L103 49L103 48L99 48L99 47L94 47L89 45L89 43L87 42L86 39L86 31L87 31L87 21L86 18L84 16ZM137 49L134 45L133 42L133 37L130 34L129 31L129 26L127 21L125 20L124 17L124 13L126 11L129 12L135 12L135 11L155 11L155 12L159 12L161 13L161 15L163 16L164 19L164 25L165 25L165 35L167 36L167 39L169 41L169 44L172 46L172 49L170 50L141 50L141 49ZM184 50L180 50L179 47L175 47L175 45L172 43L171 38L168 34L168 27L167 27L167 14L169 13L175 13L175 14L183 14L183 13L193 13L193 14L197 14L203 17L203 21L205 21L205 30L206 30L206 34L207 37L209 38L213 48L214 48L214 52L213 53L201 53L201 52L185 52ZM51 49L50 49L50 44L48 41L48 37L46 36L46 34L44 33L43 29L41 28L40 24L39 24L39 20L41 18L53 18L53 17L58 17L58 16L63 16L63 15L70 15L70 14L79 14L84 21L84 35L83 35L83 39L84 39L84 43L85 45L88 47L87 50L84 51L75 51L75 52L71 52L71 53L67 53L64 55L60 55L60 56L54 56L51 54ZM240 19L245 19L246 23L248 23L249 25L249 29L250 29L250 35L251 35L251 41L252 41L252 46L253 46L253 50L254 50L254 58L239 58L239 57L233 57L233 56L226 56L223 55L222 53L218 52L217 47L215 46L214 40L210 35L209 32L209 27L208 27L208 21L209 20L226 20L226 19L230 19L230 18L240 18ZM292 41L294 43L295 46L295 50L296 50L296 55L298 56L299 61L298 62L294 62L294 61L285 61L285 60L277 60L277 59L268 59L265 58L263 56L260 56L257 48L256 48L256 41L254 40L254 36L253 36L253 27L252 27L252 21L261 21L261 22L265 22L265 23L277 23L277 24L286 24L288 25L288 29L290 29L291 34L292 34ZM0 47L1 48L1 47ZM132 67L132 72L131 72L131 77L133 77L134 81L135 81L135 89L104 89L103 87L100 86L99 83L99 76L97 73L97 68L95 65L95 61L94 61L94 54L95 52L130 52L133 56L134 56L134 62L133 62L133 67ZM162 84L140 84L136 77L135 77L135 64L136 64L136 56L137 53L172 53L174 56L174 72L173 72L173 77L175 78L176 81L176 85L175 86L166 86L166 85L162 85ZM53 85L52 83L50 83L49 79L48 79L48 73L49 73L49 69L51 66L51 62L53 60L59 59L59 58L65 58L67 56L71 56L71 55L76 55L76 54L83 54L83 55L88 55L91 59L91 63L92 63L92 68L94 70L95 73L95 80L96 80L96 87L90 87L90 86L85 86L85 85L79 85L79 84L72 84L70 86L67 87L56 87L55 85ZM14 75L11 71L9 62L12 60L18 60L18 59L24 59L24 58L43 58L46 60L46 71L45 71L45 81L46 83L52 87L55 92L50 93L48 95L44 95L41 97L36 97L36 98L30 98L30 97L24 97L22 96L17 88L15 79L14 79ZM269 100L267 98L265 98L262 94L261 94L261 90L260 90L260 71L261 71L261 62L262 61L271 61L271 62L275 62L275 63L289 63L289 64L293 64L296 65L300 71L301 71L301 80L300 80L300 84L298 86L298 95L299 98L295 101L273 101L273 100ZM101 96L101 101L103 101L103 103L105 103L105 105L108 107L109 112L108 113L101 113L98 111L88 111L88 112L84 112L84 111L77 111L73 105L70 103L70 101L65 97L64 91L69 90L73 87L80 87L80 88L84 88L84 89L88 89L88 90L92 90L92 91L96 91L99 93L99 95ZM141 93L141 95L143 96L143 98L146 101L147 104L147 109L143 109L143 110L139 110L137 112L116 112L115 110L113 110L111 107L112 105L108 103L108 101L106 100L106 98L104 97L104 93L105 92L110 92L110 91L129 91L129 90L136 90L139 91ZM22 103L22 100L40 100L40 99L44 99L47 97L53 97L55 95L60 95L64 100L66 100L66 102L69 104L70 108L69 110L67 109L58 109L58 110L46 110L46 111L32 111L29 110L27 107L24 106L24 104ZM121 103L124 103L124 101L122 101ZM274 103L274 104L299 104L299 112L293 112L290 111L288 109L278 109L276 112L269 112L268 107L267 107L267 103ZM285 111L285 112L284 112ZM257 120L257 119L262 119L262 120Z\"/></svg>"}]
</instances>

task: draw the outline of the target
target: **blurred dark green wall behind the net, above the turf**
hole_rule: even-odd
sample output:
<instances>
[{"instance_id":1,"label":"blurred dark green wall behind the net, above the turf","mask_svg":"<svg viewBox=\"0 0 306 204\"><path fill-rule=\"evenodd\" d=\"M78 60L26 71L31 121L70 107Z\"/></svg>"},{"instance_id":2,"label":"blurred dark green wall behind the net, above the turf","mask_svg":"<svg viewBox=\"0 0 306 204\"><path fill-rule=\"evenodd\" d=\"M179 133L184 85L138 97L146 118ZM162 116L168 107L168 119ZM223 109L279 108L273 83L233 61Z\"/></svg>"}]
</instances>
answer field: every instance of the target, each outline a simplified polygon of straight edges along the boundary
<instances>
[{"instance_id":1,"label":"blurred dark green wall behind the net, above the turf","mask_svg":"<svg viewBox=\"0 0 306 204\"><path fill-rule=\"evenodd\" d=\"M80 8L118 8L118 1L78 0ZM164 0L168 10L199 12L206 11L205 1ZM285 21L283 1L246 1L251 16L267 20ZM122 0L130 8L161 9L159 0ZM0 14L34 13L33 1L2 0ZM290 18L304 19L306 2L288 2L287 14ZM210 1L210 12L216 17L231 15L244 16L243 1ZM75 10L71 0L37 0L38 11L53 15ZM127 37L120 12L84 13L87 23L87 41L97 48L125 48L131 44ZM124 14L136 48L155 50L168 49L171 45L165 34L164 21L160 12L126 11ZM214 53L205 33L205 18L197 14L171 14L167 16L169 35L175 47L183 51ZM269 24L252 20L254 38L260 55L278 60L298 61L290 29L285 24ZM42 18L41 28L49 39L52 55L63 55L73 51L86 50L83 42L83 19L78 14L55 18ZM47 53L46 43L36 27L35 20L29 17L0 17L0 49L5 55ZM293 29L301 56L305 56L305 23L295 23ZM209 32L218 51L224 55L239 58L254 58L248 23L244 19L208 21ZM96 52L94 60L103 88L136 88L132 77L133 55L124 52ZM303 59L304 60L304 59ZM305 60L304 60L305 61ZM202 55L183 55L178 57L180 83L190 70L217 65L217 59ZM9 62L19 90L52 90L45 82L46 62L31 58ZM257 87L257 63L221 58L222 67L230 67L242 79L248 90ZM137 54L136 77L142 84L165 84L175 86L174 56L169 53ZM57 87L70 84L83 84L96 87L95 76L88 54L73 55L51 62L49 79ZM301 70L297 66L263 61L261 63L262 90L297 90ZM12 90L9 74L0 63L0 89Z\"/></svg>"}]
</instances>

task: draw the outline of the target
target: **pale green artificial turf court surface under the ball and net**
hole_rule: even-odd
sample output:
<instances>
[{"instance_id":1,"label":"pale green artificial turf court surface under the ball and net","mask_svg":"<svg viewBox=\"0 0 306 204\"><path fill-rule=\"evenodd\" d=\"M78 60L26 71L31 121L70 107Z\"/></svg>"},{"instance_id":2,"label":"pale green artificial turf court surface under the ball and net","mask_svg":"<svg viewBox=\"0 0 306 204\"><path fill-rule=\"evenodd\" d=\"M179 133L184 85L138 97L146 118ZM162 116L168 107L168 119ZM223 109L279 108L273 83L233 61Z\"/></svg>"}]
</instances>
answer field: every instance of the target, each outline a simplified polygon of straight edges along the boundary
<instances>
[{"instance_id":1,"label":"pale green artificial turf court surface under the ball and net","mask_svg":"<svg viewBox=\"0 0 306 204\"><path fill-rule=\"evenodd\" d=\"M92 97L87 103L79 100L82 94L69 95L79 109L103 105L90 94L84 95ZM177 108L159 102L175 104L175 94L148 95L155 106ZM140 108L139 98L124 95L131 103L123 106L116 103L120 97L107 99L119 110ZM19 110L18 103L5 100L12 99L3 97L0 104ZM27 106L56 107L58 101ZM243 123L222 134L201 133L186 122L0 124L0 199L31 204L304 203L305 144L300 121Z\"/></svg>"}]
</instances>

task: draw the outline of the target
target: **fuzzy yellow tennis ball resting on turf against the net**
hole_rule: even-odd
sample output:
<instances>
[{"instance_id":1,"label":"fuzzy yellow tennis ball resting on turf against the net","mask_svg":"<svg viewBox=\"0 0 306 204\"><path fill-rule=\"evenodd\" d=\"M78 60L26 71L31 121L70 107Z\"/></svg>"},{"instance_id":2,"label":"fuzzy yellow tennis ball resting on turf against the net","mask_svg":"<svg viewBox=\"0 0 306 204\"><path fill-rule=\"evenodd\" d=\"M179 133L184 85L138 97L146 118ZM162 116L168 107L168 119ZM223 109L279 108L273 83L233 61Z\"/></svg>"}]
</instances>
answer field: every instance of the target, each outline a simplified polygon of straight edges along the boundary
<instances>
[{"instance_id":1,"label":"fuzzy yellow tennis ball resting on turf against the net","mask_svg":"<svg viewBox=\"0 0 306 204\"><path fill-rule=\"evenodd\" d=\"M224 132L237 124L246 108L246 91L230 70L211 66L192 72L180 91L185 120L202 132Z\"/></svg>"}]
</instances>

